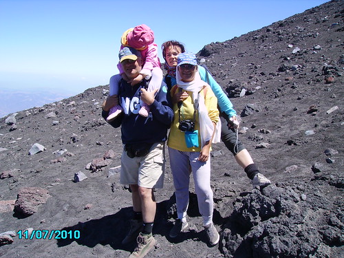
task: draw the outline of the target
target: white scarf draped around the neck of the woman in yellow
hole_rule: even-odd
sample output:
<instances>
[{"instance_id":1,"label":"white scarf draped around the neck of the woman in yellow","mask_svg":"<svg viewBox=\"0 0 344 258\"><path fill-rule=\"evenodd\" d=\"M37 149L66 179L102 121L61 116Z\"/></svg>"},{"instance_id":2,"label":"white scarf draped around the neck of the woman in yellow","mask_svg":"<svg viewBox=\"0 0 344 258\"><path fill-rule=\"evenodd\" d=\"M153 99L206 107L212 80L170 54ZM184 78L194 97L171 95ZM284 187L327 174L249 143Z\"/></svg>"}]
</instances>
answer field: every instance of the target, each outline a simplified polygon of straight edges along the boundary
<instances>
[{"instance_id":1,"label":"white scarf draped around the neck of the woman in yellow","mask_svg":"<svg viewBox=\"0 0 344 258\"><path fill-rule=\"evenodd\" d=\"M200 120L200 134L201 134L201 144L202 148L204 147L204 144L211 140L211 137L213 136L214 132L214 125L213 122L211 122L211 118L208 116L208 110L206 109L206 105L204 104L204 94L198 94L201 89L204 86L209 86L208 83L204 82L201 79L200 73L196 72L195 78L193 81L189 83L184 83L182 79L180 78L180 74L177 67L177 74L176 74L177 84L178 87L193 93L193 101L195 102L195 99L197 99L197 95L200 96L200 99L198 101L198 117ZM209 86L210 87L210 86ZM213 137L212 142L217 143L220 141L221 138L221 121L219 120L216 124L215 128L215 135Z\"/></svg>"}]
</instances>

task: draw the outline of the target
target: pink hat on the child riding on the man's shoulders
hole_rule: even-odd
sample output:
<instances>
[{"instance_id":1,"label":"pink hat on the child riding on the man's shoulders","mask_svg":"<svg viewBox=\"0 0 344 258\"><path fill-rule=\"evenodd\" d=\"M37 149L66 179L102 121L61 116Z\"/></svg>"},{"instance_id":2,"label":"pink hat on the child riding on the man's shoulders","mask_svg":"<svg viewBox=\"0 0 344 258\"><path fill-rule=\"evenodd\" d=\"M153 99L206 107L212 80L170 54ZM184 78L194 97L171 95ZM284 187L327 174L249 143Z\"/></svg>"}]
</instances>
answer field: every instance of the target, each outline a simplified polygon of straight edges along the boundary
<instances>
[{"instance_id":1,"label":"pink hat on the child riding on the man's shoulders","mask_svg":"<svg viewBox=\"0 0 344 258\"><path fill-rule=\"evenodd\" d=\"M154 33L147 25L141 24L127 34L128 45L143 50L154 42Z\"/></svg>"}]
</instances>

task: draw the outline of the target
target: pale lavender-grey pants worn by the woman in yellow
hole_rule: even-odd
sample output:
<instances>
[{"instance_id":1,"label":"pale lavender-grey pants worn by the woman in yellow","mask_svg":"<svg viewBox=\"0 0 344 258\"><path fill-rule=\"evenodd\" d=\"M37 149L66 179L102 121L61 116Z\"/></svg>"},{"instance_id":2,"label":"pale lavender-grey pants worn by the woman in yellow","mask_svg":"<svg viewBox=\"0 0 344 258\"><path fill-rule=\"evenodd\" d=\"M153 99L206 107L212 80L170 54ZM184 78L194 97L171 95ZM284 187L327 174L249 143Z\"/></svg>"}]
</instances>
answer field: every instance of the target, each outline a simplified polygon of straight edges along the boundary
<instances>
[{"instance_id":1,"label":"pale lavender-grey pants worn by the woman in yellow","mask_svg":"<svg viewBox=\"0 0 344 258\"><path fill-rule=\"evenodd\" d=\"M190 166L195 182L198 208L203 217L203 225L213 222L213 191L211 190L211 161L197 160L200 152L178 151L169 147L169 158L175 187L178 219L186 221L189 206Z\"/></svg>"}]
</instances>

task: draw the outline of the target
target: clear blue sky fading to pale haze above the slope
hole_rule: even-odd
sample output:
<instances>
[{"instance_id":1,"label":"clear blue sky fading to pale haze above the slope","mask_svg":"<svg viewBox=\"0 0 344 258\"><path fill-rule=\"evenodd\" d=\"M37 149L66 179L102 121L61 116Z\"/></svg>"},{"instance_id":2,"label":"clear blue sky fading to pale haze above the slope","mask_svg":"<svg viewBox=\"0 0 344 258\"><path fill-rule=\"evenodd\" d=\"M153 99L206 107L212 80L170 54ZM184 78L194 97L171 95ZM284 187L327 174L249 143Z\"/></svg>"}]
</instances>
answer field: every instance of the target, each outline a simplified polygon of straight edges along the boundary
<instances>
[{"instance_id":1,"label":"clear blue sky fading to pale haze above the slope","mask_svg":"<svg viewBox=\"0 0 344 258\"><path fill-rule=\"evenodd\" d=\"M0 0L0 89L72 95L118 73L120 36L142 23L197 53L327 0ZM160 51L161 52L161 51ZM160 58L162 56L160 54Z\"/></svg>"}]
</instances>

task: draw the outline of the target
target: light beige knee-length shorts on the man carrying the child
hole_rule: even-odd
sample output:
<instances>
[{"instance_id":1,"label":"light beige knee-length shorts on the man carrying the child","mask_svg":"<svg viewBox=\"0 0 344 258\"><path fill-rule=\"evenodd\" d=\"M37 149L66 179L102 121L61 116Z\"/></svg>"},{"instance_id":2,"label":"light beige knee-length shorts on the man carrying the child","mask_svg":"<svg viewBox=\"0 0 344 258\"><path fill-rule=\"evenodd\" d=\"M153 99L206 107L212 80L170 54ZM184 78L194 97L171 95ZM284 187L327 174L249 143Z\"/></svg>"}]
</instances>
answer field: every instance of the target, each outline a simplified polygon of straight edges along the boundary
<instances>
[{"instance_id":1,"label":"light beige knee-length shorts on the man carrying the child","mask_svg":"<svg viewBox=\"0 0 344 258\"><path fill-rule=\"evenodd\" d=\"M120 184L137 184L148 189L164 186L164 142L154 143L142 157L129 158L123 149L120 161Z\"/></svg>"}]
</instances>

